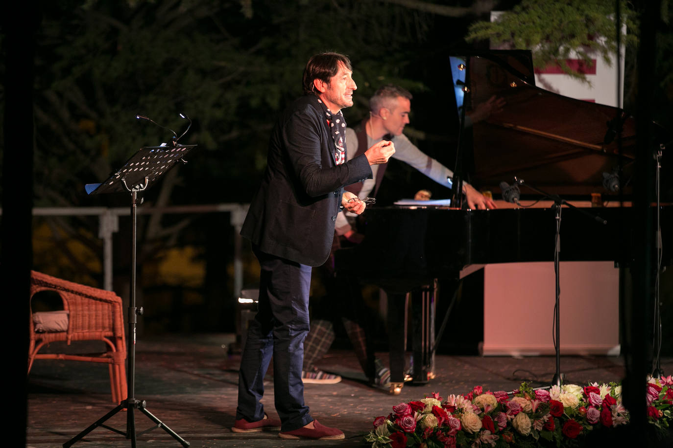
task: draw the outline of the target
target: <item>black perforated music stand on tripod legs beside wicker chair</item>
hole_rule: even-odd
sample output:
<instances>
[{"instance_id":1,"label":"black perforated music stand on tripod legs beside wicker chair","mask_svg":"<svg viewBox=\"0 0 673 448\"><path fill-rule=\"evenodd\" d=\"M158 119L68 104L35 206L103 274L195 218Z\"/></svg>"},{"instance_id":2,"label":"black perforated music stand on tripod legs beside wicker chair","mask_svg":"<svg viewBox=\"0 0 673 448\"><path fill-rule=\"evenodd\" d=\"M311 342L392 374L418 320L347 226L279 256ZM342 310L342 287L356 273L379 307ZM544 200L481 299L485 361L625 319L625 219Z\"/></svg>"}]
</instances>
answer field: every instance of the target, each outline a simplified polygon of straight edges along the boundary
<instances>
[{"instance_id":1,"label":"black perforated music stand on tripod legs beside wicker chair","mask_svg":"<svg viewBox=\"0 0 673 448\"><path fill-rule=\"evenodd\" d=\"M145 400L138 400L135 398L135 324L137 322L137 315L143 314L143 308L136 308L135 306L135 252L136 252L136 224L137 224L137 204L138 192L145 191L151 187L164 173L174 167L177 161L184 161L183 157L192 150L195 144L181 145L173 144L173 146L147 146L140 148L138 152L133 154L124 166L112 174L103 183L90 183L85 185L87 194L104 194L104 193L131 193L131 296L129 301L129 334L127 334L128 343L128 358L129 364L127 367L127 390L128 397L122 401L116 408L96 420L90 427L63 444L63 448L68 448L85 435L94 431L97 427L104 427L121 434L127 439L131 439L131 447L136 446L136 432L135 432L135 416L134 409L139 409L143 412L157 426L151 427L143 431L151 431L153 429L162 428L166 433L170 434L176 441L180 442L183 447L188 447L189 442L182 439L175 431L170 429L162 420L159 420L149 410L147 410ZM140 201L142 202L142 201ZM114 416L122 409L127 409L127 431L120 431L104 424L108 418Z\"/></svg>"}]
</instances>

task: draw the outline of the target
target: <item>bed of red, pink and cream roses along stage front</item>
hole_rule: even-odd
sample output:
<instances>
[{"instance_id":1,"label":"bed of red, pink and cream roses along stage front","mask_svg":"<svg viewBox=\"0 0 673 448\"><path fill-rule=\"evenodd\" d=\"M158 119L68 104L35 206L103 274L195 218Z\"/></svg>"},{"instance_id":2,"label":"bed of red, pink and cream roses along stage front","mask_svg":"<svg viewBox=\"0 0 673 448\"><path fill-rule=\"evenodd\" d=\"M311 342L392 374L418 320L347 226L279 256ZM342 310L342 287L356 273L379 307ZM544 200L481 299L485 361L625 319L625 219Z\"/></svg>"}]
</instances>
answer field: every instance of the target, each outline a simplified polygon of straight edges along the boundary
<instances>
[{"instance_id":1,"label":"bed of red, pink and cream roses along stage front","mask_svg":"<svg viewBox=\"0 0 673 448\"><path fill-rule=\"evenodd\" d=\"M673 407L672 377L647 382L647 419L668 429ZM372 448L391 447L575 447L591 431L629 422L621 386L567 384L533 390L526 383L512 393L484 391L446 400L433 393L400 403L374 419L365 441Z\"/></svg>"}]
</instances>

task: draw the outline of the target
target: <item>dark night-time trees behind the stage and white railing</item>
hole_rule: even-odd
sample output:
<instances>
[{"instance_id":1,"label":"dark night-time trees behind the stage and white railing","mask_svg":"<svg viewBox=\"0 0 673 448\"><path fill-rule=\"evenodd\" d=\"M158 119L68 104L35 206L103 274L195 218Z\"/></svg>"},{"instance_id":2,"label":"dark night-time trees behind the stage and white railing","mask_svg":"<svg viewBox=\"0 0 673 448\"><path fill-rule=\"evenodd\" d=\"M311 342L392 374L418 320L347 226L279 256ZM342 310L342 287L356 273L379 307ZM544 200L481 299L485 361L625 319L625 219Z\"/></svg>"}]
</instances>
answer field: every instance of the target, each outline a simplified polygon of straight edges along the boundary
<instances>
[{"instance_id":1,"label":"dark night-time trees behind the stage and white railing","mask_svg":"<svg viewBox=\"0 0 673 448\"><path fill-rule=\"evenodd\" d=\"M170 132L136 120L136 114L178 135L186 128L178 113L187 114L193 126L181 142L199 145L187 165L170 171L144 195L143 207L250 201L273 122L285 103L300 95L304 64L318 52L343 52L353 61L359 88L354 107L345 111L349 123L365 116L367 98L380 85L402 85L415 95L407 134L453 167L457 124L451 119L448 52L488 48L487 42L464 40L469 25L488 20L491 9L508 10L520 2L9 3L0 28L5 298L16 289L13 284L27 288L30 267L102 286L98 218L32 217L30 210L129 206L125 195L89 197L83 185L106 179L141 146L170 140ZM669 3L629 3L651 27L640 36L645 42L640 52L627 48L625 70L625 109L649 114L666 130L673 123L673 8L659 6ZM382 201L411 197L421 188L444 195L402 164L392 163L388 171ZM139 304L146 309L139 333L233 331L229 215L141 216L138 230ZM129 232L129 220L122 218L114 237L114 290L124 298ZM258 268L244 247L244 283L254 285ZM668 277L664 292L672 289ZM8 316L26 316L24 296L14 295L19 299L10 304ZM664 322L670 321L666 306L663 312ZM670 341L670 330L665 331L664 340ZM17 345L14 358L25 359L26 352ZM15 370L17 384L25 382L21 369Z\"/></svg>"}]
</instances>

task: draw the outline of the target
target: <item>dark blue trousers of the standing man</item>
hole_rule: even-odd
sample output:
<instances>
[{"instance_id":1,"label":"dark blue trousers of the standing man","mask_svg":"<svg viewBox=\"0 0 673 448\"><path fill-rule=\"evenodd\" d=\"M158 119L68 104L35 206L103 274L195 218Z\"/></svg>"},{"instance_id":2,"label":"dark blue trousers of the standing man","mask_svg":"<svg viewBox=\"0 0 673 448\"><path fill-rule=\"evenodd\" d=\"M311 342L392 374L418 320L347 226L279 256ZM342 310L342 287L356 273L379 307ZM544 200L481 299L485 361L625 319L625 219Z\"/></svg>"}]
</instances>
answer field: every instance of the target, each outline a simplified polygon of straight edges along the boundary
<instances>
[{"instance_id":1,"label":"dark blue trousers of the standing man","mask_svg":"<svg viewBox=\"0 0 673 448\"><path fill-rule=\"evenodd\" d=\"M304 427L313 418L304 404L302 363L309 330L308 295L311 267L260 252L258 312L250 322L238 372L236 419L264 418L264 375L273 355L275 406L281 431Z\"/></svg>"}]
</instances>

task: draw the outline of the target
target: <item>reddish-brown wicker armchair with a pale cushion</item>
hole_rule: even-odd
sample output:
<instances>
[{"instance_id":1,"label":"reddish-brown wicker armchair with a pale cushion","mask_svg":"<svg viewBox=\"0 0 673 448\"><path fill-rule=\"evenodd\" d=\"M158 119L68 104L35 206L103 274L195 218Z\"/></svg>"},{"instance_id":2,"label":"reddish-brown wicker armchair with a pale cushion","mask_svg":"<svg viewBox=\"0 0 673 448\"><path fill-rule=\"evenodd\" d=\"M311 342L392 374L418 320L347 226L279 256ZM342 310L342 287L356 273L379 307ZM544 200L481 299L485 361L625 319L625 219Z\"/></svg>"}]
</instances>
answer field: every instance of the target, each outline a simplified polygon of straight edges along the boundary
<instances>
[{"instance_id":1,"label":"reddish-brown wicker armchair with a pale cushion","mask_svg":"<svg viewBox=\"0 0 673 448\"><path fill-rule=\"evenodd\" d=\"M127 347L124 336L122 300L114 292L80 285L31 272L30 300L40 292L51 290L61 296L63 308L58 312L30 312L30 348L28 373L35 359L72 359L94 363L108 363L112 401L120 403L127 398L125 360ZM57 317L54 319L54 317ZM60 322L58 322L60 317ZM52 321L50 323L50 320ZM105 353L71 355L67 353L38 353L44 345L55 341L104 341Z\"/></svg>"}]
</instances>

